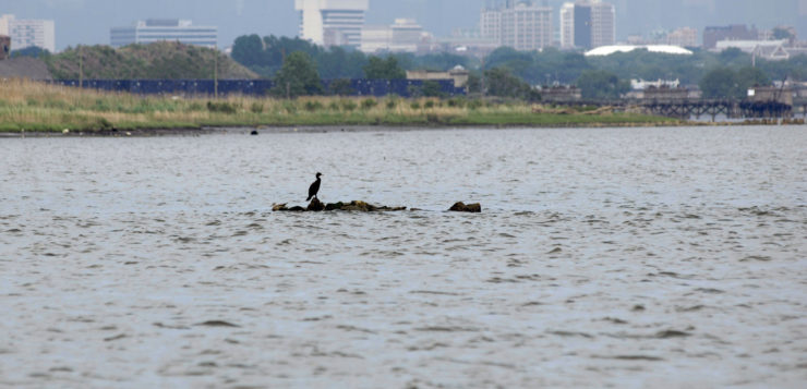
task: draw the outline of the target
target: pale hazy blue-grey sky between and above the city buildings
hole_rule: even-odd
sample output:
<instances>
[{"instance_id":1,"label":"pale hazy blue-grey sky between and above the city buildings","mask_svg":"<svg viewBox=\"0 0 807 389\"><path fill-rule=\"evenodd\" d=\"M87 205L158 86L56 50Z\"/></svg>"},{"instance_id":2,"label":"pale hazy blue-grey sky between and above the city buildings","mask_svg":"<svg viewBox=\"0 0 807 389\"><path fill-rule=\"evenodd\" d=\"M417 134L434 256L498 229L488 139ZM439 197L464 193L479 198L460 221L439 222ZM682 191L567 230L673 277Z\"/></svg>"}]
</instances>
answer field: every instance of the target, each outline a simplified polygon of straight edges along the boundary
<instances>
[{"instance_id":1,"label":"pale hazy blue-grey sky between and above the city buildings","mask_svg":"<svg viewBox=\"0 0 807 389\"><path fill-rule=\"evenodd\" d=\"M413 17L437 36L472 27L487 0L370 0L368 23ZM540 0L539 0L540 1ZM555 12L563 0L550 0ZM617 10L617 39L659 28L730 23L770 28L794 25L807 38L807 0L611 0ZM219 27L227 47L244 34L297 34L293 0L0 0L0 14L56 20L57 47L109 44L109 28L148 17L190 19ZM555 21L557 23L557 21Z\"/></svg>"}]
</instances>

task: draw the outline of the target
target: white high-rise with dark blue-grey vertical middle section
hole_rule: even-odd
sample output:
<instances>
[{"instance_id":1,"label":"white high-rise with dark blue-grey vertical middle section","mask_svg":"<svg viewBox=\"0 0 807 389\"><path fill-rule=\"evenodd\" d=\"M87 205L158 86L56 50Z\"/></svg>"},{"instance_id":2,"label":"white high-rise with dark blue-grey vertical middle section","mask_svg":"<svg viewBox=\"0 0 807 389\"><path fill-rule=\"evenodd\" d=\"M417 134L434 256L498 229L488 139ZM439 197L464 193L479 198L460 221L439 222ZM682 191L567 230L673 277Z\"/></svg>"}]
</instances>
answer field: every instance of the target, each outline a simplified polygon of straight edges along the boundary
<instances>
[{"instance_id":1,"label":"white high-rise with dark blue-grey vertical middle section","mask_svg":"<svg viewBox=\"0 0 807 389\"><path fill-rule=\"evenodd\" d=\"M567 2L561 8L561 46L592 49L616 41L616 9L601 0Z\"/></svg>"}]
</instances>

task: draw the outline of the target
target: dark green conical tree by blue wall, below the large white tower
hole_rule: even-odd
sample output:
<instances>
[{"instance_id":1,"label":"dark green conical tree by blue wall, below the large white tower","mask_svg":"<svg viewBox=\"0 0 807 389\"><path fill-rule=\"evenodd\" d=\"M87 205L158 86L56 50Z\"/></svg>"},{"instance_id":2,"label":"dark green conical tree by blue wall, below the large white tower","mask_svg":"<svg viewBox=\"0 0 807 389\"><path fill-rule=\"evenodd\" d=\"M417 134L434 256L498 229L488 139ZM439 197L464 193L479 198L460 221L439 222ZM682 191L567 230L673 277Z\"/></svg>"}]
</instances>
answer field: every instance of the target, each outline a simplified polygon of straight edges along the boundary
<instances>
[{"instance_id":1,"label":"dark green conical tree by blue wall, below the large white tower","mask_svg":"<svg viewBox=\"0 0 807 389\"><path fill-rule=\"evenodd\" d=\"M273 94L298 97L320 93L322 93L322 82L311 57L302 51L294 51L286 57L282 68L275 76Z\"/></svg>"}]
</instances>

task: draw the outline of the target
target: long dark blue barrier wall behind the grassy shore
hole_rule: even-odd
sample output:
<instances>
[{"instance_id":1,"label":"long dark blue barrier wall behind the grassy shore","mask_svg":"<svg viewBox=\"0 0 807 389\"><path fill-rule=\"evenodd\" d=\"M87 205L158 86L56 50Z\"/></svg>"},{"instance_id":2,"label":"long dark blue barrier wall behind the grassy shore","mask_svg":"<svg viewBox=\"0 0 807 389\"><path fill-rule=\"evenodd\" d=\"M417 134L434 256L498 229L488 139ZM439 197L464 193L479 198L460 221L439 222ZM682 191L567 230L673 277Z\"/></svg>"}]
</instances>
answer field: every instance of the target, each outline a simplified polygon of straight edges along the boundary
<instances>
[{"instance_id":1,"label":"long dark blue barrier wall behind the grassy shore","mask_svg":"<svg viewBox=\"0 0 807 389\"><path fill-rule=\"evenodd\" d=\"M335 80L324 80L323 90L330 90ZM441 92L448 97L465 96L465 88L457 88L450 80L435 81ZM50 82L56 85L79 87L79 80L55 80ZM213 80L84 80L82 87L88 89L125 92L136 95L214 95L215 82ZM218 94L268 96L275 83L269 80L219 80ZM420 80L350 80L350 94L348 96L375 96L397 95L412 97L422 93L423 81Z\"/></svg>"}]
</instances>

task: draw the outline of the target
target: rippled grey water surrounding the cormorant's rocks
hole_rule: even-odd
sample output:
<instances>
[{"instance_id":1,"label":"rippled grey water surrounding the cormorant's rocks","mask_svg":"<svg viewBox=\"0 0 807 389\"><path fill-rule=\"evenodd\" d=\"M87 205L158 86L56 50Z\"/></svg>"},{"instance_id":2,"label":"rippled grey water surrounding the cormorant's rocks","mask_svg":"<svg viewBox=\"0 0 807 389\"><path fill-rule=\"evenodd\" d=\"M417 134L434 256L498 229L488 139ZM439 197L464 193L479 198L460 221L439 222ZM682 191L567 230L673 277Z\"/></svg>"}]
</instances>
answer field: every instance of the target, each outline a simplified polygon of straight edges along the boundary
<instances>
[{"instance_id":1,"label":"rippled grey water surrounding the cormorant's rocks","mask_svg":"<svg viewBox=\"0 0 807 389\"><path fill-rule=\"evenodd\" d=\"M0 166L0 386L807 379L805 127L4 138ZM422 210L270 211L316 171Z\"/></svg>"}]
</instances>

